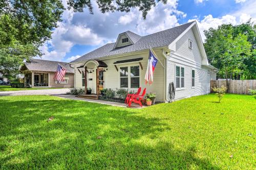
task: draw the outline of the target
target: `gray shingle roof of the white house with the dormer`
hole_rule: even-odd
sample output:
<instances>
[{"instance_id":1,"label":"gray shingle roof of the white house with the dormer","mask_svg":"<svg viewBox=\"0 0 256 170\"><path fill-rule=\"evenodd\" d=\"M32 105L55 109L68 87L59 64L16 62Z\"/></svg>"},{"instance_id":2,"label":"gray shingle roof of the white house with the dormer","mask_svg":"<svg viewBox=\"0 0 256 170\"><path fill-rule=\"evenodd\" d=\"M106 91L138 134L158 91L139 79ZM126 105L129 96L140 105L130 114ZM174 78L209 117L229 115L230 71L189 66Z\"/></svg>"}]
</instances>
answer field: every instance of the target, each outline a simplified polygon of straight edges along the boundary
<instances>
[{"instance_id":1,"label":"gray shingle roof of the white house with the dormer","mask_svg":"<svg viewBox=\"0 0 256 170\"><path fill-rule=\"evenodd\" d=\"M194 22L194 21L193 21ZM124 53L136 52L141 50L149 49L150 46L161 47L172 43L180 34L182 34L193 22L185 23L178 27L174 27L168 30L160 31L154 34L139 36L131 31L126 31L125 33L135 41L133 45L127 45L123 47L114 48L115 43L105 44L96 50L81 56L80 58L72 61L87 61L92 59L97 59L101 57L108 57L113 55L119 55Z\"/></svg>"}]
</instances>

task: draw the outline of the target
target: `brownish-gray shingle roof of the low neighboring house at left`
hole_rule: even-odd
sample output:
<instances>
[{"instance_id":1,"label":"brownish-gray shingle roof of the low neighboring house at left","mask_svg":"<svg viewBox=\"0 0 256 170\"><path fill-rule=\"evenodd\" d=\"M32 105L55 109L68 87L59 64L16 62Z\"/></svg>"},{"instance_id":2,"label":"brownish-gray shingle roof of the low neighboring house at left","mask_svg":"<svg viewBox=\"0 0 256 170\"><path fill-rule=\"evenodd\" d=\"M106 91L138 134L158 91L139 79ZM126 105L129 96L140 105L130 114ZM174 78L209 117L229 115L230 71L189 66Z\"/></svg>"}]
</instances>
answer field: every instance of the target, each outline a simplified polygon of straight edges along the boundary
<instances>
[{"instance_id":1,"label":"brownish-gray shingle roof of the low neighboring house at left","mask_svg":"<svg viewBox=\"0 0 256 170\"><path fill-rule=\"evenodd\" d=\"M55 72L57 70L58 63L67 69L66 72L74 73L74 68L70 67L69 63L65 63L65 62L40 60L40 59L30 59L30 61L25 62L24 65L29 70Z\"/></svg>"}]
</instances>

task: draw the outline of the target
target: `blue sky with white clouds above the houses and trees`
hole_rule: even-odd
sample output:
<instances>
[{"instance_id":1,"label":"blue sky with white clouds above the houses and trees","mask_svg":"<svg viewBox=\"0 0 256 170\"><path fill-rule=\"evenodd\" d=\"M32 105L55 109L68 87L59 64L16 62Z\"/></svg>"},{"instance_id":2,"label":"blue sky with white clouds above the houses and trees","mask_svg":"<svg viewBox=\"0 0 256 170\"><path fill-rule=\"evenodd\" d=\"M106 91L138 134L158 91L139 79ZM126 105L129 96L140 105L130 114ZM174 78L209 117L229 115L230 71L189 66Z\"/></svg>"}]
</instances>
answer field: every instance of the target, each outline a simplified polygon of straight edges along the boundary
<instances>
[{"instance_id":1,"label":"blue sky with white clouds above the houses and trees","mask_svg":"<svg viewBox=\"0 0 256 170\"><path fill-rule=\"evenodd\" d=\"M166 5L158 3L145 20L137 8L129 13L102 14L92 2L94 15L86 9L82 13L63 13L52 39L41 47L45 54L42 59L70 62L105 43L115 42L118 34L127 30L143 36L197 20L204 39L203 30L210 27L237 25L256 18L256 1L252 0L168 0ZM63 4L67 7L65 0Z\"/></svg>"}]
</instances>

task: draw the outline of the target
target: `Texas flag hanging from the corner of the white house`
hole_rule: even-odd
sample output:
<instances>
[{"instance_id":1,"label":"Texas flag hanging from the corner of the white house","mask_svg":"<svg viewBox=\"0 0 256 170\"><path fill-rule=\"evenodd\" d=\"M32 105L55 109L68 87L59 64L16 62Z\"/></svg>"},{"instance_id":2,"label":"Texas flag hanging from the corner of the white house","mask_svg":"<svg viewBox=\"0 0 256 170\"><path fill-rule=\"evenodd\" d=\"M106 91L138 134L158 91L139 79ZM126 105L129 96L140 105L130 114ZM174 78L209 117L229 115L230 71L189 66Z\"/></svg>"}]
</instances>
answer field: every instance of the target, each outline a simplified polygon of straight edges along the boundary
<instances>
[{"instance_id":1,"label":"Texas flag hanging from the corner of the white house","mask_svg":"<svg viewBox=\"0 0 256 170\"><path fill-rule=\"evenodd\" d=\"M145 75L145 81L146 84L147 82L150 82L150 85L153 82L153 72L156 68L158 59L157 57L152 53L151 49L150 49L150 54L148 55L148 62L147 62L147 68L146 68L146 75Z\"/></svg>"}]
</instances>

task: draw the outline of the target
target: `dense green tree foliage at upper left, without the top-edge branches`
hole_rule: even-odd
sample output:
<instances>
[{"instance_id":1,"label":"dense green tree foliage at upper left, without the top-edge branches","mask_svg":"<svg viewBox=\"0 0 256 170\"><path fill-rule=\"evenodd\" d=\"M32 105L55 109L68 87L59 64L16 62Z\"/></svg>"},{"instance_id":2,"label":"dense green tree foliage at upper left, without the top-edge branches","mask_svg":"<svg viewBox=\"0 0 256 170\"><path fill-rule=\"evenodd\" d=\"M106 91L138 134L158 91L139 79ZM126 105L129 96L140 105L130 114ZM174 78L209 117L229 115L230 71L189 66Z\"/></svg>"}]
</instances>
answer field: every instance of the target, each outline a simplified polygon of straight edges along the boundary
<instances>
[{"instance_id":1,"label":"dense green tree foliage at upper left, without the top-edge branches","mask_svg":"<svg viewBox=\"0 0 256 170\"><path fill-rule=\"evenodd\" d=\"M58 0L0 0L0 72L15 77L24 60L42 54L38 47L51 38L61 20Z\"/></svg>"}]
</instances>

